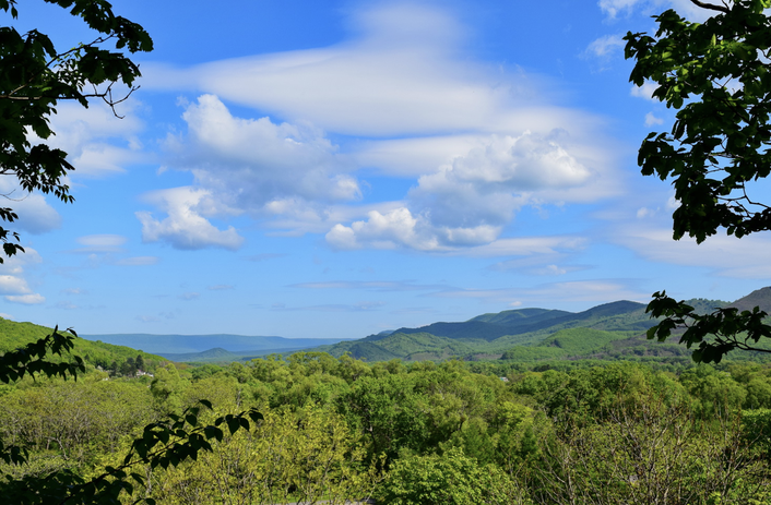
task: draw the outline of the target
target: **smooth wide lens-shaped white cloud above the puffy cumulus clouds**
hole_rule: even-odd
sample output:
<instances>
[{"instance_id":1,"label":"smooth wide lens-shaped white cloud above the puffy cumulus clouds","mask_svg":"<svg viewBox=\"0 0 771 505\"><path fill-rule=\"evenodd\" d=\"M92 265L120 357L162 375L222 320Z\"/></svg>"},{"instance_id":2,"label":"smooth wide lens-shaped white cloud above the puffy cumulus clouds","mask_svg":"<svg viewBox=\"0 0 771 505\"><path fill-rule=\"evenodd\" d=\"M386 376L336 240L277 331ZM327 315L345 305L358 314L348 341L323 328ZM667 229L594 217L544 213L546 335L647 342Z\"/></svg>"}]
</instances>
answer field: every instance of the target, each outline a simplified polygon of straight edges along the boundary
<instances>
[{"instance_id":1,"label":"smooth wide lens-shaped white cloud above the puffy cumulus clouds","mask_svg":"<svg viewBox=\"0 0 771 505\"><path fill-rule=\"evenodd\" d=\"M491 72L455 60L463 28L441 10L381 4L356 11L351 25L356 37L337 46L183 71L150 67L146 82L175 88L187 84L359 135L447 132L470 122L483 128L486 117L509 98L509 89L494 91L483 79Z\"/></svg>"}]
</instances>

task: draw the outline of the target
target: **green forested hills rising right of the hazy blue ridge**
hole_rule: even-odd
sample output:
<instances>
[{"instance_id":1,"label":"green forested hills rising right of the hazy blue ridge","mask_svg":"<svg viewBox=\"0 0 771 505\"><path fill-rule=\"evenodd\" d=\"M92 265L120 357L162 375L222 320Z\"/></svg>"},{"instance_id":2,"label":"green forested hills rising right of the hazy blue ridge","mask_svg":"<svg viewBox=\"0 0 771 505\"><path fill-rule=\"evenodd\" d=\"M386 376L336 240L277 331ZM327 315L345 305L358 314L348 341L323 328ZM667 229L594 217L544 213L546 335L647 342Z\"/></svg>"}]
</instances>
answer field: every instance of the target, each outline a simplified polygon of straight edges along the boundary
<instances>
[{"instance_id":1,"label":"green forested hills rising right of the hazy blue ridge","mask_svg":"<svg viewBox=\"0 0 771 505\"><path fill-rule=\"evenodd\" d=\"M700 312L731 305L721 300L693 299L688 302ZM758 290L734 303L740 302L764 302L761 308L771 305L771 288ZM645 313L643 303L621 300L576 313L518 309L482 314L465 322L434 323L419 328L382 332L360 340L321 346L316 350L335 357L348 352L354 358L368 361L396 358L419 361L450 357L539 361L604 359L634 353L683 354L674 344L650 349L655 344L647 341L643 335L653 324L655 321Z\"/></svg>"}]
</instances>

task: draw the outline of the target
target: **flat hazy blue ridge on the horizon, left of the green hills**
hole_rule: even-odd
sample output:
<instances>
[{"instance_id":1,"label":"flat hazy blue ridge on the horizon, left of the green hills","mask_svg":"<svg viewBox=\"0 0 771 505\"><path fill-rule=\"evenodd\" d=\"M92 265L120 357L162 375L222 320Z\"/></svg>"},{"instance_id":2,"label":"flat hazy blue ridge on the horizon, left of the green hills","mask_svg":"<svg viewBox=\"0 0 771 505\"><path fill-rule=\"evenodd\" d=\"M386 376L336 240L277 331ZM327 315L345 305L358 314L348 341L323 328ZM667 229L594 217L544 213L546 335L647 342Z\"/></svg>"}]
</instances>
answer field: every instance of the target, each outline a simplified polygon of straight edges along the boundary
<instances>
[{"instance_id":1,"label":"flat hazy blue ridge on the horizon, left of the green hills","mask_svg":"<svg viewBox=\"0 0 771 505\"><path fill-rule=\"evenodd\" d=\"M111 334L80 335L87 340L100 340L117 346L128 346L155 354L197 353L210 349L223 348L230 352L262 352L274 350L295 350L308 347L336 344L342 338L284 338L284 337L249 337L244 335L147 335L147 334Z\"/></svg>"}]
</instances>

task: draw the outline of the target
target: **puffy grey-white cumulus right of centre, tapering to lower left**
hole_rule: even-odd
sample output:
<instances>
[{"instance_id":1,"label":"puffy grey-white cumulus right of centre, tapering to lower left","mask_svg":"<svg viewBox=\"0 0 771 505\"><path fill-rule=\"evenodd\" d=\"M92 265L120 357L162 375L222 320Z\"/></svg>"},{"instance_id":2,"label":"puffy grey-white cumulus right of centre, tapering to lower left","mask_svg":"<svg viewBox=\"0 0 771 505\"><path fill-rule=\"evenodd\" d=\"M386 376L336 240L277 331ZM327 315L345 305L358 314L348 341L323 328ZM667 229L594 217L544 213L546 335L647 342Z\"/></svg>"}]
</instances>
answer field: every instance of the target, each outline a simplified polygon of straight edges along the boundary
<instances>
[{"instance_id":1,"label":"puffy grey-white cumulus right of centre, tapering to lower left","mask_svg":"<svg viewBox=\"0 0 771 505\"><path fill-rule=\"evenodd\" d=\"M335 225L327 241L337 249L371 247L451 250L493 242L522 205L585 187L592 170L570 155L558 134L493 135L482 146L423 176L408 205L371 211L366 220ZM568 193L560 195L569 199Z\"/></svg>"}]
</instances>

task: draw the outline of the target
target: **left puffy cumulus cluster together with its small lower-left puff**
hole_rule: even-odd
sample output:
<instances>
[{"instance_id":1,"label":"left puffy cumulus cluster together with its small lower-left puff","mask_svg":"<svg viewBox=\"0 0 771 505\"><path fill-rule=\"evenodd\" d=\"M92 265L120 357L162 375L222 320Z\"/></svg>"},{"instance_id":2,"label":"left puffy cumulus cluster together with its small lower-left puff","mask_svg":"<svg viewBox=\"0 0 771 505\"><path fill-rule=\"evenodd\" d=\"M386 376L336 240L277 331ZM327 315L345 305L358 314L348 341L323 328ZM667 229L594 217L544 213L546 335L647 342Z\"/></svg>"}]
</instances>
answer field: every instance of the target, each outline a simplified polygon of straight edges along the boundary
<instances>
[{"instance_id":1,"label":"left puffy cumulus cluster together with its small lower-left puff","mask_svg":"<svg viewBox=\"0 0 771 505\"><path fill-rule=\"evenodd\" d=\"M242 239L236 230L218 230L209 219L244 213L281 219L278 226L300 232L319 226L325 231L329 205L361 196L336 147L307 122L237 118L213 95L189 105L183 119L188 134L167 142L169 165L190 171L195 183L146 195L168 217L137 214L145 241L164 240L178 249L238 249Z\"/></svg>"}]
</instances>

